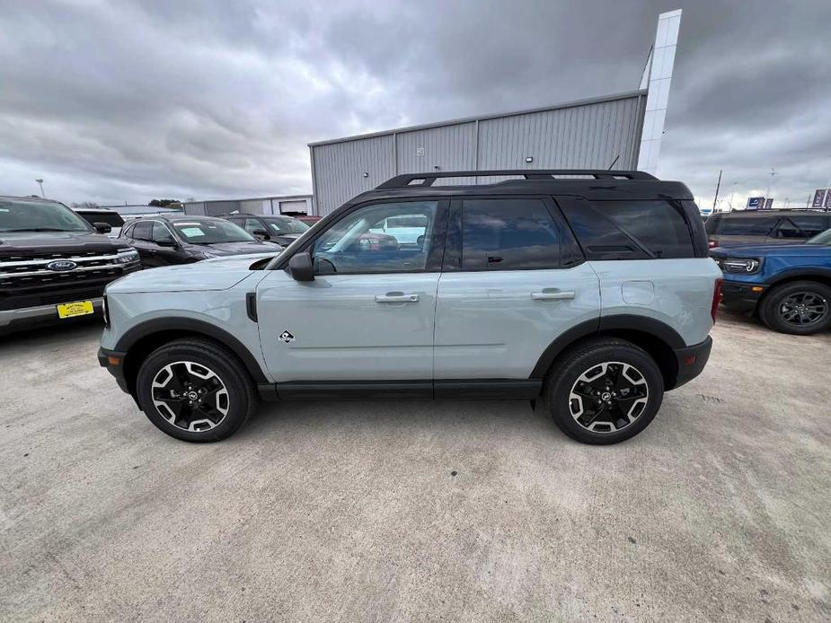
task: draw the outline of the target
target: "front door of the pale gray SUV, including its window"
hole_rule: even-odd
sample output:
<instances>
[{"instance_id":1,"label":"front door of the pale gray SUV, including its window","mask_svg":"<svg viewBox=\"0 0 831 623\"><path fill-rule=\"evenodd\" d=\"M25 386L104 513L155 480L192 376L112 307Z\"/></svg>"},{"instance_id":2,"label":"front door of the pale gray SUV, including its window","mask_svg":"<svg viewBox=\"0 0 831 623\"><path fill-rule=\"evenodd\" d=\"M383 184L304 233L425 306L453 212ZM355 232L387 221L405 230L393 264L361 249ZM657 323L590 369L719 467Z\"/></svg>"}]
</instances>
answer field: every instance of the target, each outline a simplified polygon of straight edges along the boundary
<instances>
[{"instance_id":1,"label":"front door of the pale gray SUV, including its window","mask_svg":"<svg viewBox=\"0 0 831 623\"><path fill-rule=\"evenodd\" d=\"M257 310L276 380L431 381L446 215L440 200L358 206L305 248L314 281L271 271L257 287ZM419 219L423 237L377 233L389 216Z\"/></svg>"}]
</instances>

